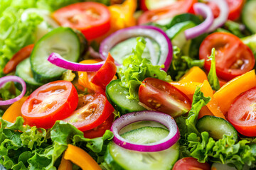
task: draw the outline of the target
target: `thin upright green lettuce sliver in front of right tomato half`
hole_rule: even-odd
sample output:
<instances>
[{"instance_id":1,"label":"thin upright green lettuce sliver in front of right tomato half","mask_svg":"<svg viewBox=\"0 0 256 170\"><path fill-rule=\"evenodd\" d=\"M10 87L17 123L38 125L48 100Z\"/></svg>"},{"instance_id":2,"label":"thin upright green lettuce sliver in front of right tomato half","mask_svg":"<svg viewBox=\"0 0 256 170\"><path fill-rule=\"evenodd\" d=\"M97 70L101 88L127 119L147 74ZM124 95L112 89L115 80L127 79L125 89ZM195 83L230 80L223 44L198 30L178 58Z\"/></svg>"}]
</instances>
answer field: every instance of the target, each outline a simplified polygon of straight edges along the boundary
<instances>
[{"instance_id":1,"label":"thin upright green lettuce sliver in front of right tomato half","mask_svg":"<svg viewBox=\"0 0 256 170\"><path fill-rule=\"evenodd\" d=\"M220 89L220 82L218 81L216 73L216 62L215 62L215 48L212 49L212 53L209 57L211 61L210 72L208 73L208 81L213 90L218 91Z\"/></svg>"}]
</instances>

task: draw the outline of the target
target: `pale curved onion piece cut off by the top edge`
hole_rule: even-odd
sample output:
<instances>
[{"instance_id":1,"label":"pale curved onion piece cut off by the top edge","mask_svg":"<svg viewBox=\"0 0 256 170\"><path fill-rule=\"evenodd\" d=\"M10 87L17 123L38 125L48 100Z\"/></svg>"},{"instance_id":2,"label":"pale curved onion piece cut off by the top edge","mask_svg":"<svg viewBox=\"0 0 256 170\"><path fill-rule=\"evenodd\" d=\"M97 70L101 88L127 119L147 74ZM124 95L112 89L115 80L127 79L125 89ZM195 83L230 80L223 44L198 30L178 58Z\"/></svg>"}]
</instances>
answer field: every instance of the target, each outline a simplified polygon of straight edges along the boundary
<instances>
[{"instance_id":1,"label":"pale curved onion piece cut off by the top edge","mask_svg":"<svg viewBox=\"0 0 256 170\"><path fill-rule=\"evenodd\" d=\"M225 21L228 20L228 3L226 0L208 0L212 1L216 5L218 5L218 8L220 9L220 14L215 20L213 21L212 26L207 30L208 33L213 32L213 30L221 27L224 25Z\"/></svg>"}]
</instances>

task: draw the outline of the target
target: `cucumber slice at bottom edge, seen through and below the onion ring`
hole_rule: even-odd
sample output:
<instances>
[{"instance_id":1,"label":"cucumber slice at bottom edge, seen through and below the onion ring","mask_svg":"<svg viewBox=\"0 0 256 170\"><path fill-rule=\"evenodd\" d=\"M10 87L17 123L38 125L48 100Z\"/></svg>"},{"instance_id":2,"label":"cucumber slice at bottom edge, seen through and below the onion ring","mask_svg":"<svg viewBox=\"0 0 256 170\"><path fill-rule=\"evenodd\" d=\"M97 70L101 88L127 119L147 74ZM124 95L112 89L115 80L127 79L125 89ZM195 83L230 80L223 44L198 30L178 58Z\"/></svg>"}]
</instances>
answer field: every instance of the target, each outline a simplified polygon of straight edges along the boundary
<instances>
[{"instance_id":1,"label":"cucumber slice at bottom edge, seen through and below the onion ring","mask_svg":"<svg viewBox=\"0 0 256 170\"><path fill-rule=\"evenodd\" d=\"M169 134L169 131L164 128L144 127L137 130L126 132L122 135L124 139L139 144L156 142ZM110 169L131 169L131 170L169 170L179 156L178 142L169 149L161 152L134 152L129 149L124 149L110 142L107 146L105 154L105 162Z\"/></svg>"}]
</instances>

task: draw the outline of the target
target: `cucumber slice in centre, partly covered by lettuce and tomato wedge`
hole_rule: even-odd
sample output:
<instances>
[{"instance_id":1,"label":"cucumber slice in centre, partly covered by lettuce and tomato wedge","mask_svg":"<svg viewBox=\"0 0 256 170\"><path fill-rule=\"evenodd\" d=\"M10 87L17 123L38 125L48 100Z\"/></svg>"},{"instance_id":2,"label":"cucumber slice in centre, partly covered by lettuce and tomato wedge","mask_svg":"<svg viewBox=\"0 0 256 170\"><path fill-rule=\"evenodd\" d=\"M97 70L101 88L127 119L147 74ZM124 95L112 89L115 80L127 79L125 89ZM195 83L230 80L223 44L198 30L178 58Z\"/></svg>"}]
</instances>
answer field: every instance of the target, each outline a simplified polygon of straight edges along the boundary
<instances>
[{"instance_id":1,"label":"cucumber slice in centre, partly covered by lettuce and tomato wedge","mask_svg":"<svg viewBox=\"0 0 256 170\"><path fill-rule=\"evenodd\" d=\"M128 89L120 86L120 79L111 81L107 84L106 95L108 101L112 104L114 109L119 111L121 115L131 113L134 111L145 111L146 109L139 105L137 100L128 99Z\"/></svg>"}]
</instances>

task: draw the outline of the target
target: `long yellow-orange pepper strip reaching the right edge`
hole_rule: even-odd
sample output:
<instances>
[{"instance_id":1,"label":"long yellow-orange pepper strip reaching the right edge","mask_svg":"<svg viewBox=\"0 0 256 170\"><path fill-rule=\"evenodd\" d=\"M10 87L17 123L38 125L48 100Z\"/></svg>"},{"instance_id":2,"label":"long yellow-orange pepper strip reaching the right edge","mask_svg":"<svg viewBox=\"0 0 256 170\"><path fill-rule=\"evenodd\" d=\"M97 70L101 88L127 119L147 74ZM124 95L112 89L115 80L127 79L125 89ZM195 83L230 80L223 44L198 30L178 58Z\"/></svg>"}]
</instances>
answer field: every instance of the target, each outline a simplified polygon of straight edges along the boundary
<instances>
[{"instance_id":1,"label":"long yellow-orange pepper strip reaching the right edge","mask_svg":"<svg viewBox=\"0 0 256 170\"><path fill-rule=\"evenodd\" d=\"M220 110L225 114L228 112L236 97L255 86L255 70L252 70L242 74L240 77L235 77L235 79L228 81L228 83L216 91L213 96L218 101Z\"/></svg>"}]
</instances>

